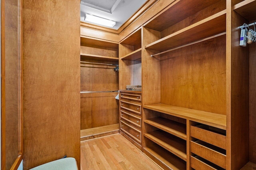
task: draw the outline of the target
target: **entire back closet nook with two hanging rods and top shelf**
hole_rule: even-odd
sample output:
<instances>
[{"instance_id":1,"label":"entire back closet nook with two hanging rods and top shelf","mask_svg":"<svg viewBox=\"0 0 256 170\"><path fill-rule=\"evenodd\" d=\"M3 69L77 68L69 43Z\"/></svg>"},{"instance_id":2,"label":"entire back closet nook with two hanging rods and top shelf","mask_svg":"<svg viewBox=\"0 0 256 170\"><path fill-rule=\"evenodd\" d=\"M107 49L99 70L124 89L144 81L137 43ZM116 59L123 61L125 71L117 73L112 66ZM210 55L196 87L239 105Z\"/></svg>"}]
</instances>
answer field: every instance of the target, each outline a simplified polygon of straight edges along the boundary
<instances>
[{"instance_id":1,"label":"entire back closet nook with two hanging rods and top shelf","mask_svg":"<svg viewBox=\"0 0 256 170\"><path fill-rule=\"evenodd\" d=\"M81 141L118 133L118 42L80 36Z\"/></svg>"}]
</instances>

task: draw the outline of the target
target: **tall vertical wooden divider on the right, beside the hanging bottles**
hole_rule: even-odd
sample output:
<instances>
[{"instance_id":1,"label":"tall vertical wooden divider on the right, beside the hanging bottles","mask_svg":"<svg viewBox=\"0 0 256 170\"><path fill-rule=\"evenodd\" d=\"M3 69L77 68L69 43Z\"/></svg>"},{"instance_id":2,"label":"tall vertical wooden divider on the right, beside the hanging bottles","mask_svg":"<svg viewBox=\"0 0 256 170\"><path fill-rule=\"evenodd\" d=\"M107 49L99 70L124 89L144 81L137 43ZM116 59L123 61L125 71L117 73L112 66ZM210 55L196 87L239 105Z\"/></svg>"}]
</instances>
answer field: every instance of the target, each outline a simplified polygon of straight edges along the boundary
<instances>
[{"instance_id":1,"label":"tall vertical wooden divider on the right, beside the hanging bottles","mask_svg":"<svg viewBox=\"0 0 256 170\"><path fill-rule=\"evenodd\" d=\"M232 9L232 1L227 1L230 12L227 12L226 40L226 169L235 170L249 161L249 49L238 45L238 27L247 21Z\"/></svg>"}]
</instances>

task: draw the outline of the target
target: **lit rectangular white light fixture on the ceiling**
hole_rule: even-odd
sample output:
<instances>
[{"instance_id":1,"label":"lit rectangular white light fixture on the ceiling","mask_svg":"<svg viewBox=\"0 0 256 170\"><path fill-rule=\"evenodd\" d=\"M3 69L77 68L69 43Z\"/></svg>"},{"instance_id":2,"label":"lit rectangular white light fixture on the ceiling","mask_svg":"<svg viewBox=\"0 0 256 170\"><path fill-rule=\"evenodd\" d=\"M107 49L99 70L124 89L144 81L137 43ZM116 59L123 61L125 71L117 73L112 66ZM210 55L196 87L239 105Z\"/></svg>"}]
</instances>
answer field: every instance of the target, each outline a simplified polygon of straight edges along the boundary
<instances>
[{"instance_id":1,"label":"lit rectangular white light fixture on the ceiling","mask_svg":"<svg viewBox=\"0 0 256 170\"><path fill-rule=\"evenodd\" d=\"M88 21L88 22L93 22L93 23L96 23L96 24L112 27L112 28L116 25L115 21L107 20L105 18L101 18L101 17L94 16L94 15L91 15L91 14L85 14L84 15L84 20Z\"/></svg>"}]
</instances>

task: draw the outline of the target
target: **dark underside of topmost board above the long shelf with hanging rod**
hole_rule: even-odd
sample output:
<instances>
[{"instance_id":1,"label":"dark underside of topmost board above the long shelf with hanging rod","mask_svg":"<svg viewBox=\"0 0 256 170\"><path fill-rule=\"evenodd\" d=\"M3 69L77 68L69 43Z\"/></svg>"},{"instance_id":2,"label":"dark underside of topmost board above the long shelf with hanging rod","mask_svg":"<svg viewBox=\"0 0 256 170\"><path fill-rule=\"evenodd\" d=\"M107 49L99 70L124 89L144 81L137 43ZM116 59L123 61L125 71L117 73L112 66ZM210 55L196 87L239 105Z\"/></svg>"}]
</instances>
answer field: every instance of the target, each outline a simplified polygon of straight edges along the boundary
<instances>
[{"instance_id":1,"label":"dark underside of topmost board above the long shelf with hanging rod","mask_svg":"<svg viewBox=\"0 0 256 170\"><path fill-rule=\"evenodd\" d=\"M192 14L215 4L216 0L179 0L173 2L170 7L163 10L150 21L144 24L144 27L157 31L165 30L166 28L188 18ZM181 12L182 11L182 12Z\"/></svg>"}]
</instances>

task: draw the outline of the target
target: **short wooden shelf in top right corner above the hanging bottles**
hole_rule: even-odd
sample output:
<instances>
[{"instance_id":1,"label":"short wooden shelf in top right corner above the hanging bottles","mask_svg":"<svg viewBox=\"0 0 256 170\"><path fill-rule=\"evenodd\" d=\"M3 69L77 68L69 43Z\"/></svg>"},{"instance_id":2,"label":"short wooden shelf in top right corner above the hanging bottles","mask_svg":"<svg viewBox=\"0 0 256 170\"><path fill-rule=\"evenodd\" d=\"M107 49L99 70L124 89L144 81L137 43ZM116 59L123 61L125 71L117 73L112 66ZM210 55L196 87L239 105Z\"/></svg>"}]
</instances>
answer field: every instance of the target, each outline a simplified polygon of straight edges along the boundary
<instances>
[{"instance_id":1,"label":"short wooden shelf in top right corner above the hanging bottles","mask_svg":"<svg viewBox=\"0 0 256 170\"><path fill-rule=\"evenodd\" d=\"M256 19L256 0L244 0L234 5L234 11L243 16L248 21ZM249 24L249 23L247 23Z\"/></svg>"}]
</instances>

